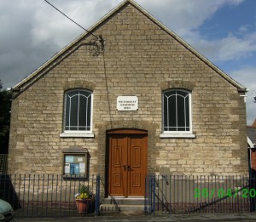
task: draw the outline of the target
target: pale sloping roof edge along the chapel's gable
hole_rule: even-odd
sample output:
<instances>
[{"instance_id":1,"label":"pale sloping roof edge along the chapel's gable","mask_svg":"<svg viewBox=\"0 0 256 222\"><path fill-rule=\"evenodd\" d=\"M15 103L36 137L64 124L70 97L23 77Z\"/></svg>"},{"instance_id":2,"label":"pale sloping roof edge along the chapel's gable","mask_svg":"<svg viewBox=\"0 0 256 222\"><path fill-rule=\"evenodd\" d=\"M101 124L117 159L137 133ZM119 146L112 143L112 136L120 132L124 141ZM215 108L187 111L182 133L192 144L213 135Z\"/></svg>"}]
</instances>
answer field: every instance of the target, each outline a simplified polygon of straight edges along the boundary
<instances>
[{"instance_id":1,"label":"pale sloping roof edge along the chapel's gable","mask_svg":"<svg viewBox=\"0 0 256 222\"><path fill-rule=\"evenodd\" d=\"M29 88L33 83L37 82L38 76L40 76L40 73L47 70L47 67L49 65L55 65L58 58L61 57L61 55L64 55L67 53L67 51L72 48L76 43L79 43L80 40L82 40L84 37L89 37L93 31L96 30L98 26L101 26L102 23L108 18L110 18L113 14L121 10L126 4L131 4L133 7L135 7L138 11L140 11L142 14L144 14L146 17L148 17L149 20L152 20L157 26L160 26L161 29L166 31L170 36L172 36L174 39L177 40L177 42L181 43L185 48L189 49L190 52L195 54L200 60L205 62L207 65L209 65L214 71L216 71L221 77L223 77L226 81L231 83L234 87L237 88L239 92L246 92L247 88L242 86L240 83L237 83L233 78L229 77L224 71L220 70L216 65L213 65L211 61L207 60L202 54L200 54L198 51L195 50L195 48L191 47L189 43L186 43L181 37L178 37L177 34L175 34L173 31L168 29L166 26L164 26L162 23L160 23L159 20L156 20L153 15L149 14L145 9L143 9L139 4L137 4L133 0L125 0L122 3L119 3L117 7L112 9L108 14L102 17L101 20L99 20L94 26L91 26L89 29L89 32L84 32L79 37L77 37L72 43L68 44L65 48L62 48L61 51L57 54L55 54L52 58L50 58L48 61L44 63L44 65L41 65L36 71L33 71L32 74L30 74L28 77L24 78L20 83L17 83L12 90L15 92L22 92L26 91L27 88ZM25 86L25 87L24 87ZM17 97L19 94L17 94L15 97Z\"/></svg>"}]
</instances>

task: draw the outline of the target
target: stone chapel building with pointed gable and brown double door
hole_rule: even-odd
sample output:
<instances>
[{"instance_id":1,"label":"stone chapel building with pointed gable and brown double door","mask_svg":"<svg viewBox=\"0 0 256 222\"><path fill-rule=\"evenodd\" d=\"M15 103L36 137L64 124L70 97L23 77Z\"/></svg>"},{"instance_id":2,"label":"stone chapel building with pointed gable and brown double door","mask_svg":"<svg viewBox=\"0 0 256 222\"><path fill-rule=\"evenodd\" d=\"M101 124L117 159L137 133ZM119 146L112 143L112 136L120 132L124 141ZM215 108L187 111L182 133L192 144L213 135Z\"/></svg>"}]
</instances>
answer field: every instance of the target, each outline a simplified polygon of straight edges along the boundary
<instances>
[{"instance_id":1,"label":"stone chapel building with pointed gable and brown double door","mask_svg":"<svg viewBox=\"0 0 256 222\"><path fill-rule=\"evenodd\" d=\"M247 174L246 88L132 0L12 90L9 174Z\"/></svg>"}]
</instances>

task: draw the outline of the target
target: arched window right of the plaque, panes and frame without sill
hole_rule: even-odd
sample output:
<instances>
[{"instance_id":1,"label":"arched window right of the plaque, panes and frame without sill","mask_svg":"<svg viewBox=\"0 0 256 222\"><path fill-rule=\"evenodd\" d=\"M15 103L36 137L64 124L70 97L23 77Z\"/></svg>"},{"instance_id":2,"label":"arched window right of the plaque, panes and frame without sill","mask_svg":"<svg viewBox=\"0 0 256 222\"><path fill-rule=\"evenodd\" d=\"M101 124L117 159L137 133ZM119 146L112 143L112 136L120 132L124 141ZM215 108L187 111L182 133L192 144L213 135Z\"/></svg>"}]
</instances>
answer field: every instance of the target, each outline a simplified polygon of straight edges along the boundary
<instances>
[{"instance_id":1,"label":"arched window right of the plaque, panes and frame without sill","mask_svg":"<svg viewBox=\"0 0 256 222\"><path fill-rule=\"evenodd\" d=\"M164 133L191 132L191 93L174 88L163 92Z\"/></svg>"}]
</instances>

